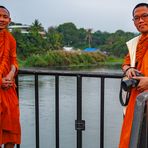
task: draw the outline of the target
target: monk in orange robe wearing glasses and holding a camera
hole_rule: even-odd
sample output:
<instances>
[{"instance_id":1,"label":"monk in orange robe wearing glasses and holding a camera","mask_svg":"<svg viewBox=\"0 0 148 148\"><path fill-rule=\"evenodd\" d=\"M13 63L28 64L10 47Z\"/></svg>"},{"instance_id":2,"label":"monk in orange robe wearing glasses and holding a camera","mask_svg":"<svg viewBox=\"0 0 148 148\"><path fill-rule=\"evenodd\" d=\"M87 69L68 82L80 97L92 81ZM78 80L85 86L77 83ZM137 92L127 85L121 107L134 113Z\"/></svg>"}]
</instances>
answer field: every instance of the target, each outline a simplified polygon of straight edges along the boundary
<instances>
[{"instance_id":1,"label":"monk in orange robe wearing glasses and holding a camera","mask_svg":"<svg viewBox=\"0 0 148 148\"><path fill-rule=\"evenodd\" d=\"M129 51L123 63L123 72L128 78L139 80L136 88L132 88L126 114L122 125L119 148L129 148L130 135L132 129L132 121L134 114L135 100L139 93L148 90L148 4L140 3L133 10L133 21L137 30L141 33L136 37L136 42L133 42L131 48L135 46L135 54ZM133 41L133 40L132 40ZM137 77L136 71L144 74Z\"/></svg>"}]
</instances>

